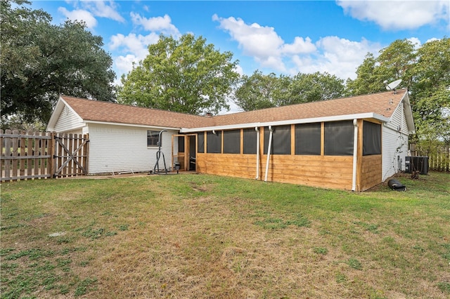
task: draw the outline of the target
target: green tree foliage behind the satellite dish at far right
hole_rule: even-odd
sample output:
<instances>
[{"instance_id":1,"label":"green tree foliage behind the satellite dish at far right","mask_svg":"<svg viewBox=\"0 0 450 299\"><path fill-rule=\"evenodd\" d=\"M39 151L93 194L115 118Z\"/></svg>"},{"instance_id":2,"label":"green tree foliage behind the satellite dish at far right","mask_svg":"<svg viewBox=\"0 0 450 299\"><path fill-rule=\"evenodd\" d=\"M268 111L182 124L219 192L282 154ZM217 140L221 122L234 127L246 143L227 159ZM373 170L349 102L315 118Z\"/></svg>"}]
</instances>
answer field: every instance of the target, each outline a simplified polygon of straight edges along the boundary
<instances>
[{"instance_id":1,"label":"green tree foliage behind the satellite dish at far right","mask_svg":"<svg viewBox=\"0 0 450 299\"><path fill-rule=\"evenodd\" d=\"M416 49L407 39L394 41L371 53L356 70L357 77L347 80L347 95L385 91L385 85L401 79L398 88L410 91L416 126L414 142L424 154L435 152L450 142L450 39L428 41Z\"/></svg>"}]
</instances>

